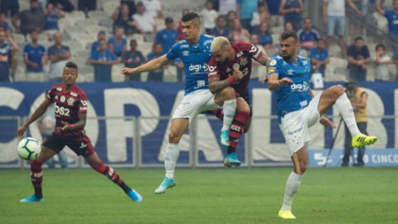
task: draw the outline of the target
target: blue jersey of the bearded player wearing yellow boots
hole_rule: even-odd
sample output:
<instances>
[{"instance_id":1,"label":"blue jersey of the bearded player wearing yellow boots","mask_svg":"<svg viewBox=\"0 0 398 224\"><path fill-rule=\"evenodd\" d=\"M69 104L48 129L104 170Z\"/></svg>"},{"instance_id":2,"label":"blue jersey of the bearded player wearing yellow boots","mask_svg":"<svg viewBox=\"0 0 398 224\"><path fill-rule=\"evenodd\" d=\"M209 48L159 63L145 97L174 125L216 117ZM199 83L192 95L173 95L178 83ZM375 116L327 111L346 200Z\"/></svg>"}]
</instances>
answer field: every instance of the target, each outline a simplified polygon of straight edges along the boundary
<instances>
[{"instance_id":1,"label":"blue jersey of the bearded player wearing yellow boots","mask_svg":"<svg viewBox=\"0 0 398 224\"><path fill-rule=\"evenodd\" d=\"M297 55L297 62L285 61L276 56L269 63L269 75L278 74L278 79L286 77L293 81L292 84L275 90L279 122L285 114L304 108L310 103L310 68L310 61L300 55Z\"/></svg>"}]
</instances>

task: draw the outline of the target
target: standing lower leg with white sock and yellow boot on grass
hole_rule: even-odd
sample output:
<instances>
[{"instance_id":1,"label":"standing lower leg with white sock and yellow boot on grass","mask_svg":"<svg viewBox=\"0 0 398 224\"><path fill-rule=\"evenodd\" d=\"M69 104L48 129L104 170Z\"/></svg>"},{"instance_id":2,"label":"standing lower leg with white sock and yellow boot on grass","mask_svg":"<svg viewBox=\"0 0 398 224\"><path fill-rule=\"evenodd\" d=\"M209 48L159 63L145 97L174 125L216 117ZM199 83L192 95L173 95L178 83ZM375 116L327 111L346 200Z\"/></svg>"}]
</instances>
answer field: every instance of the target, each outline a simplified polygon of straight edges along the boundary
<instances>
[{"instance_id":1,"label":"standing lower leg with white sock and yellow boot on grass","mask_svg":"<svg viewBox=\"0 0 398 224\"><path fill-rule=\"evenodd\" d=\"M283 219L296 218L296 216L294 216L292 213L292 202L294 195L298 192L301 178L307 167L307 154L304 147L293 154L292 161L293 171L287 178L282 208L278 213L278 217Z\"/></svg>"}]
</instances>

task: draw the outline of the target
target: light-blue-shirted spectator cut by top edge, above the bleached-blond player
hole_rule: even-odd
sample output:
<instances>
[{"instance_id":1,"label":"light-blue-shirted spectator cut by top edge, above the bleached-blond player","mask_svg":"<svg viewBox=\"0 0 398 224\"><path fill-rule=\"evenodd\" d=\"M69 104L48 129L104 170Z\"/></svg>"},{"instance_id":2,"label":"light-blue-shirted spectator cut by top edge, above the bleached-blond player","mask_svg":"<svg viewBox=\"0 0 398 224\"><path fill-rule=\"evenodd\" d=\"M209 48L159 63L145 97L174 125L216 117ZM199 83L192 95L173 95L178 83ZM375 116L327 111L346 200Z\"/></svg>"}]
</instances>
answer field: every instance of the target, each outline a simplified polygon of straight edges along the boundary
<instances>
[{"instance_id":1,"label":"light-blue-shirted spectator cut by top edge, above the bleached-blond player","mask_svg":"<svg viewBox=\"0 0 398 224\"><path fill-rule=\"evenodd\" d=\"M237 0L237 15L241 20L242 26L251 30L250 21L253 16L253 12L257 12L259 0Z\"/></svg>"}]
</instances>

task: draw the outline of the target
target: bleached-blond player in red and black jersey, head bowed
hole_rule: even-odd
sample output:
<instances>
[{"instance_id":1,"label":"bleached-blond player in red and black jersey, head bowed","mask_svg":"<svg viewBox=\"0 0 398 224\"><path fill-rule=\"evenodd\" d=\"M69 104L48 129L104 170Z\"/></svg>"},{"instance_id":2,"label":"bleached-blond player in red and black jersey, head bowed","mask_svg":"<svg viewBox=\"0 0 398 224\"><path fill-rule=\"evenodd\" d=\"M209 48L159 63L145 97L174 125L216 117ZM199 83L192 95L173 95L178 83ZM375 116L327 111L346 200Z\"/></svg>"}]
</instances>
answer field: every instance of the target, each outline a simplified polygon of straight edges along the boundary
<instances>
[{"instance_id":1,"label":"bleached-blond player in red and black jersey, head bowed","mask_svg":"<svg viewBox=\"0 0 398 224\"><path fill-rule=\"evenodd\" d=\"M248 84L251 74L251 59L266 66L270 58L256 46L248 42L229 41L219 36L211 43L213 57L209 62L209 89L213 94L230 86L237 96L236 114L229 129L229 146L224 159L226 166L239 166L236 147L242 133L246 133L251 124L251 105ZM222 109L213 110L212 114L223 119Z\"/></svg>"}]
</instances>

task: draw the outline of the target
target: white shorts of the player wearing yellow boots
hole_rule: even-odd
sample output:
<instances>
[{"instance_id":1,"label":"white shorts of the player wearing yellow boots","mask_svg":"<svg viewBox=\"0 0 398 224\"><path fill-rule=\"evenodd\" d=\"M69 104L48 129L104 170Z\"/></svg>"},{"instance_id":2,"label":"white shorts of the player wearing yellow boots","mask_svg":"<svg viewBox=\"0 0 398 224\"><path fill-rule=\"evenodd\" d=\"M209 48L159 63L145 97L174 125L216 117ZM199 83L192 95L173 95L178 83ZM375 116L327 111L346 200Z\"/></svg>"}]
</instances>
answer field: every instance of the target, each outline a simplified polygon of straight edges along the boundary
<instances>
[{"instance_id":1,"label":"white shorts of the player wearing yellow boots","mask_svg":"<svg viewBox=\"0 0 398 224\"><path fill-rule=\"evenodd\" d=\"M320 97L321 94L316 95L308 106L287 113L282 118L279 127L285 137L291 156L311 140L308 129L320 119L318 111Z\"/></svg>"}]
</instances>

